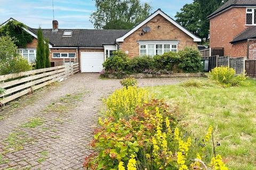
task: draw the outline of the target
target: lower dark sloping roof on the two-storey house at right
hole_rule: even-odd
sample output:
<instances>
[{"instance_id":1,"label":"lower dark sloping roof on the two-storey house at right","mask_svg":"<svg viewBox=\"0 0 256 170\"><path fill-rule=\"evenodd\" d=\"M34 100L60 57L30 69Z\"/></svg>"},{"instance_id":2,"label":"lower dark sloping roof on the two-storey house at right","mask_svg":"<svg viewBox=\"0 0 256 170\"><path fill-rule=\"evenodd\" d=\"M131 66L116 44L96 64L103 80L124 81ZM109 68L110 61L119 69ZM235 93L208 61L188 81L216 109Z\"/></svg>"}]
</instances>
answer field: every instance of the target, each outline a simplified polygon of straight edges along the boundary
<instances>
[{"instance_id":1,"label":"lower dark sloping roof on the two-storey house at right","mask_svg":"<svg viewBox=\"0 0 256 170\"><path fill-rule=\"evenodd\" d=\"M239 33L239 35L237 35L230 43L236 44L250 38L256 38L256 26L247 28L243 32Z\"/></svg>"}]
</instances>

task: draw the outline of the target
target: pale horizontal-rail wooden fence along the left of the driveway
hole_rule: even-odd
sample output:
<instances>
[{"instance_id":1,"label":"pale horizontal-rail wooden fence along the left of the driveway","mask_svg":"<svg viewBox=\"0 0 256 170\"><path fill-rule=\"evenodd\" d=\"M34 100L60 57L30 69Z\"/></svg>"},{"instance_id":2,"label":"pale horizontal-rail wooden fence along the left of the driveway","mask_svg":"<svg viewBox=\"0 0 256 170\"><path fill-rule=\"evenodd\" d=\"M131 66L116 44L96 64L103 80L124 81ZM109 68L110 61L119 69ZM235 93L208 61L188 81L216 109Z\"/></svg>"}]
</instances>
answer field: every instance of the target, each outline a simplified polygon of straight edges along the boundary
<instances>
[{"instance_id":1,"label":"pale horizontal-rail wooden fence along the left of the driveway","mask_svg":"<svg viewBox=\"0 0 256 170\"><path fill-rule=\"evenodd\" d=\"M0 75L0 88L5 89L0 94L0 105L29 94L62 78L68 78L79 72L79 64L61 65L46 69Z\"/></svg>"}]
</instances>

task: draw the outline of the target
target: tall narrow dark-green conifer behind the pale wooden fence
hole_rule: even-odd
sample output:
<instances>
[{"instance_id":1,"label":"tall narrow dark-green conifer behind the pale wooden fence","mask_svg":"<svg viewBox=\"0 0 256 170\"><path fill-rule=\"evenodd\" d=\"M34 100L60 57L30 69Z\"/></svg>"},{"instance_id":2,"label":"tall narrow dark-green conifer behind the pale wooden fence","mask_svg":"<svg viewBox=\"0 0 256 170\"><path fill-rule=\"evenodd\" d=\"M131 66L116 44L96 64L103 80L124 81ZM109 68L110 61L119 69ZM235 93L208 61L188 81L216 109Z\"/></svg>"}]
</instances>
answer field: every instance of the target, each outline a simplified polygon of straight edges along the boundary
<instances>
[{"instance_id":1,"label":"tall narrow dark-green conifer behind the pale wooden fence","mask_svg":"<svg viewBox=\"0 0 256 170\"><path fill-rule=\"evenodd\" d=\"M37 48L36 48L36 69L45 68L45 44L43 38L43 31L39 27L37 32Z\"/></svg>"}]
</instances>

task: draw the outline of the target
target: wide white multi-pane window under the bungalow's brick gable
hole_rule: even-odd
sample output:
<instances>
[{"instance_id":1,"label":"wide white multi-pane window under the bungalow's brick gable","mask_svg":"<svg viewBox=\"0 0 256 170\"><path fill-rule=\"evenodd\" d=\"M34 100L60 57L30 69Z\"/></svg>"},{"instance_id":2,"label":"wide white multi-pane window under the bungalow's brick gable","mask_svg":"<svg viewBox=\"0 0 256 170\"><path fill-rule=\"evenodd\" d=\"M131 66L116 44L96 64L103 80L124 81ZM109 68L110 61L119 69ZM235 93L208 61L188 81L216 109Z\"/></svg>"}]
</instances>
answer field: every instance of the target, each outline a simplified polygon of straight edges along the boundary
<instances>
[{"instance_id":1,"label":"wide white multi-pane window under the bungalow's brick gable","mask_svg":"<svg viewBox=\"0 0 256 170\"><path fill-rule=\"evenodd\" d=\"M140 56L163 55L167 52L178 52L177 44L142 44L140 45Z\"/></svg>"}]
</instances>

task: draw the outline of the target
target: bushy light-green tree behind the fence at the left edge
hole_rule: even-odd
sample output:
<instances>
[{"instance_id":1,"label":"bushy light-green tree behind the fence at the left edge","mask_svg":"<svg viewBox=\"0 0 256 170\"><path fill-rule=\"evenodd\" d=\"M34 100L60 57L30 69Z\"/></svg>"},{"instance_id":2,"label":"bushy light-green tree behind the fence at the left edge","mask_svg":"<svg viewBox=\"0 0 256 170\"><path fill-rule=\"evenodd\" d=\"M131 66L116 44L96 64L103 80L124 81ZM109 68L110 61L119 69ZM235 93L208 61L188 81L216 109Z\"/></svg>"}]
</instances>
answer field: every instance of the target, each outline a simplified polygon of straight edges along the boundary
<instances>
[{"instance_id":1,"label":"bushy light-green tree behind the fence at the left edge","mask_svg":"<svg viewBox=\"0 0 256 170\"><path fill-rule=\"evenodd\" d=\"M29 71L32 67L28 61L17 54L14 39L0 37L0 75Z\"/></svg>"}]
</instances>

